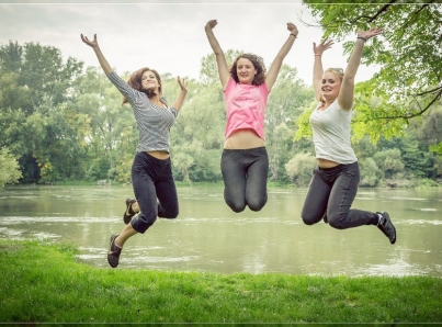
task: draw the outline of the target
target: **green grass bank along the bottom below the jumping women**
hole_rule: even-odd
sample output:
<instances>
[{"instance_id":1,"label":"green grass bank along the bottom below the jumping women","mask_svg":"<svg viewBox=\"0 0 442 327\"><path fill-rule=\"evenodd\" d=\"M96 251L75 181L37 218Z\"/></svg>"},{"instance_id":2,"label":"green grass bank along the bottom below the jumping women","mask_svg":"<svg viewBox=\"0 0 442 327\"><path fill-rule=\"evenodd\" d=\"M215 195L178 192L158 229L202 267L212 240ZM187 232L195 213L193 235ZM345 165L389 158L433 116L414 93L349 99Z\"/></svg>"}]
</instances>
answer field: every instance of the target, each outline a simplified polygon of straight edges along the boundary
<instances>
[{"instance_id":1,"label":"green grass bank along the bottom below the jumping women","mask_svg":"<svg viewBox=\"0 0 442 327\"><path fill-rule=\"evenodd\" d=\"M438 278L102 269L77 253L66 244L0 239L0 322L442 322Z\"/></svg>"}]
</instances>

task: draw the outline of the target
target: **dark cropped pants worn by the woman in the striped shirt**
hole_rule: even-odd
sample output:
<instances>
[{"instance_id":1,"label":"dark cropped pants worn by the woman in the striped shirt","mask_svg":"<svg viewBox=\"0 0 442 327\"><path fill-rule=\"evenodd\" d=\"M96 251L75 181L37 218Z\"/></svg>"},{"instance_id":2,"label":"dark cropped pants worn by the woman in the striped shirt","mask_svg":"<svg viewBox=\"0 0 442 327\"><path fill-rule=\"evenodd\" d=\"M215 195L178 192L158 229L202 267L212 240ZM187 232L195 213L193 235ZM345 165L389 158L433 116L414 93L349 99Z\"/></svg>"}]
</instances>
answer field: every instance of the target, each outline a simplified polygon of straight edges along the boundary
<instances>
[{"instance_id":1,"label":"dark cropped pants worn by the woman in the striped shirt","mask_svg":"<svg viewBox=\"0 0 442 327\"><path fill-rule=\"evenodd\" d=\"M178 216L178 195L170 158L157 159L147 153L137 153L132 165L132 184L139 214L131 224L144 234L158 217Z\"/></svg>"}]
</instances>

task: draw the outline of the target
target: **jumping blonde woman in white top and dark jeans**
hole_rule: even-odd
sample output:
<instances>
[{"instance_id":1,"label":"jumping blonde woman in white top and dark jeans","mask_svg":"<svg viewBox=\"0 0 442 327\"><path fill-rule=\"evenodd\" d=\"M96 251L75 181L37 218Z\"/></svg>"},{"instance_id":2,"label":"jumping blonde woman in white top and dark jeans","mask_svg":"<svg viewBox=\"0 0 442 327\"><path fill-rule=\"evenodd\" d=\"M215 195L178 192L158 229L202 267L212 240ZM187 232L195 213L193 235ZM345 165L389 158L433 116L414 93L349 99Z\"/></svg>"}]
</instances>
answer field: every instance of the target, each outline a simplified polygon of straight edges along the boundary
<instances>
[{"instance_id":1,"label":"jumping blonde woman in white top and dark jeans","mask_svg":"<svg viewBox=\"0 0 442 327\"><path fill-rule=\"evenodd\" d=\"M324 40L313 49L315 64L313 86L319 101L310 115L318 166L302 210L306 225L322 218L333 228L345 229L363 225L377 226L390 244L396 243L396 228L386 212L351 208L360 181L358 158L350 143L354 77L361 63L364 44L382 34L382 29L358 31L356 42L345 70L322 70L321 56L333 44Z\"/></svg>"}]
</instances>

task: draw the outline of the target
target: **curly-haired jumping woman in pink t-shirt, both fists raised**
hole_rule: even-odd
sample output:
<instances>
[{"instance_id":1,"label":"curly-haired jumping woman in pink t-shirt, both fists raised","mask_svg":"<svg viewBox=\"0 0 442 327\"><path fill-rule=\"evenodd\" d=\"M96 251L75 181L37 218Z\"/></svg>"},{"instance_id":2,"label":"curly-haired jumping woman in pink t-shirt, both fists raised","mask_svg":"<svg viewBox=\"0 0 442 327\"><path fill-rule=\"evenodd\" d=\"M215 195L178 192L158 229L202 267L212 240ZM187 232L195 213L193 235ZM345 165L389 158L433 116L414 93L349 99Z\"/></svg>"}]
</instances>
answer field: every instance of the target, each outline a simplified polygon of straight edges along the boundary
<instances>
[{"instance_id":1,"label":"curly-haired jumping woman in pink t-shirt, both fists raised","mask_svg":"<svg viewBox=\"0 0 442 327\"><path fill-rule=\"evenodd\" d=\"M287 23L287 41L269 71L265 71L262 58L252 54L238 56L229 69L213 32L216 24L216 20L208 21L205 32L216 57L226 103L227 124L220 162L225 185L224 199L235 212L243 211L246 205L252 211L260 211L268 198L265 105L283 59L292 48L298 31L294 24Z\"/></svg>"}]
</instances>

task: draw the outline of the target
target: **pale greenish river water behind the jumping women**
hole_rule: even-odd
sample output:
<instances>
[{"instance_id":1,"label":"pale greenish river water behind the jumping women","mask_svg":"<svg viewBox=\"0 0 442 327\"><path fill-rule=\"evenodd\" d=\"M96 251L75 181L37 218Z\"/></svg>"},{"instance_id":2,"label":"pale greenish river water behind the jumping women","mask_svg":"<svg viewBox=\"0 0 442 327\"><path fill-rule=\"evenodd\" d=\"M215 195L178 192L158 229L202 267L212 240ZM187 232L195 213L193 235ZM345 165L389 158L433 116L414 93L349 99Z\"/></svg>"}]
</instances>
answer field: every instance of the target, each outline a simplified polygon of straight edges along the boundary
<instances>
[{"instance_id":1,"label":"pale greenish river water behind the jumping women","mask_svg":"<svg viewBox=\"0 0 442 327\"><path fill-rule=\"evenodd\" d=\"M271 189L261 212L235 214L222 187L179 188L180 216L133 237L120 268L309 275L435 275L442 272L441 191L365 190L354 205L389 212L396 245L375 227L337 230L299 218L305 189ZM79 261L109 268L109 237L124 224L131 187L9 187L0 237L70 240Z\"/></svg>"}]
</instances>

